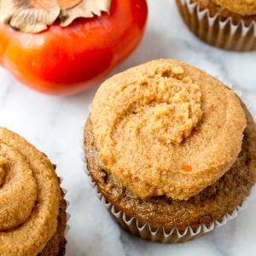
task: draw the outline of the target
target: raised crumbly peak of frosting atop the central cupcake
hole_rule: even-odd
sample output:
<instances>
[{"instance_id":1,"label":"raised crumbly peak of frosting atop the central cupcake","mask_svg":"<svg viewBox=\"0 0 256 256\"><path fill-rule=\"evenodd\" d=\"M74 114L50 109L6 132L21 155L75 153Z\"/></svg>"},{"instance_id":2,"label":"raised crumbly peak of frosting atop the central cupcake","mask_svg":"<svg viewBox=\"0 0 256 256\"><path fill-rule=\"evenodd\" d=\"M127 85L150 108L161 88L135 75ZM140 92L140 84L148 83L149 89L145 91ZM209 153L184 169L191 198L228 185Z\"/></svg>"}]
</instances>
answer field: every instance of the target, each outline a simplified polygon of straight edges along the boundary
<instances>
[{"instance_id":1,"label":"raised crumbly peak of frosting atop the central cupcake","mask_svg":"<svg viewBox=\"0 0 256 256\"><path fill-rule=\"evenodd\" d=\"M141 126L144 137L154 137L166 144L182 143L201 119L200 87L165 79L158 85L160 101L142 108L133 122Z\"/></svg>"}]
</instances>

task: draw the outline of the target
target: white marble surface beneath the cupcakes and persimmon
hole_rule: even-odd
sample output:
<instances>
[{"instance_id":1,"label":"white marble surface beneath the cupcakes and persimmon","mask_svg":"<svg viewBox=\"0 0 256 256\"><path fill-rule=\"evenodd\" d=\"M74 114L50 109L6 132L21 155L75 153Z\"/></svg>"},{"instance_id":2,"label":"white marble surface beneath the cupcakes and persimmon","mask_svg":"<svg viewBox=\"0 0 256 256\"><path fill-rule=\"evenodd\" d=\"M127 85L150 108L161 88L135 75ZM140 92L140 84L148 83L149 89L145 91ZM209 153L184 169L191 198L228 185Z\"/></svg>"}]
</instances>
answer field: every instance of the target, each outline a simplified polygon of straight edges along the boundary
<instances>
[{"instance_id":1,"label":"white marble surface beneath the cupcakes and persimmon","mask_svg":"<svg viewBox=\"0 0 256 256\"><path fill-rule=\"evenodd\" d=\"M113 73L155 58L176 58L230 81L256 109L256 52L226 52L201 43L184 26L172 0L148 0L148 7L143 43ZM96 87L77 96L44 96L21 86L1 68L0 85L0 125L48 154L64 177L72 215L67 255L256 255L256 201L229 224L185 244L142 241L120 230L93 194L83 170L83 125Z\"/></svg>"}]
</instances>

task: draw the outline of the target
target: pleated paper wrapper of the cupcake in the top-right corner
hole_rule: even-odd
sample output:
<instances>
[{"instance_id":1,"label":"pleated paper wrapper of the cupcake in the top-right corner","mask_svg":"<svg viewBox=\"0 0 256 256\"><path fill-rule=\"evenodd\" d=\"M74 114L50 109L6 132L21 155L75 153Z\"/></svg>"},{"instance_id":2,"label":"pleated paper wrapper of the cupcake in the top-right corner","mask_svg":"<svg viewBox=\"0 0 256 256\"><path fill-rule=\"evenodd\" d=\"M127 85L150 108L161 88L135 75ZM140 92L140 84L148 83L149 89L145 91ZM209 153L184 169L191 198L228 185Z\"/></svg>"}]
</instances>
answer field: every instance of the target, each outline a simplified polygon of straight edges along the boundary
<instances>
[{"instance_id":1,"label":"pleated paper wrapper of the cupcake in the top-right corner","mask_svg":"<svg viewBox=\"0 0 256 256\"><path fill-rule=\"evenodd\" d=\"M220 15L211 16L209 9L201 10L199 3L190 3L190 0L176 2L186 25L207 44L236 51L256 50L255 20L249 26L244 20L235 25L231 17L223 21Z\"/></svg>"}]
</instances>

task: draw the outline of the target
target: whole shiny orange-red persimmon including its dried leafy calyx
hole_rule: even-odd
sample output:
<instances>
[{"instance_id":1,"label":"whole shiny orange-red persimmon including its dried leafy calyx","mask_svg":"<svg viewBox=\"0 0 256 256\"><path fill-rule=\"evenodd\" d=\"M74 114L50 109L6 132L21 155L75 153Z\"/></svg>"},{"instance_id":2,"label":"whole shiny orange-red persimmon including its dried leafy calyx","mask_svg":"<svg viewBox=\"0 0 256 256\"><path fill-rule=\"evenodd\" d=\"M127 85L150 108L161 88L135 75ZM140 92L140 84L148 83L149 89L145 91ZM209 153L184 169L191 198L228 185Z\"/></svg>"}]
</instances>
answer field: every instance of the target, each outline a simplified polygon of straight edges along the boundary
<instances>
[{"instance_id":1,"label":"whole shiny orange-red persimmon including its dried leafy calyx","mask_svg":"<svg viewBox=\"0 0 256 256\"><path fill-rule=\"evenodd\" d=\"M6 6L15 2L0 4L0 65L55 96L85 90L113 70L143 38L148 15L145 0L98 0L105 6L91 12L81 0L18 1L21 11L10 14Z\"/></svg>"}]
</instances>

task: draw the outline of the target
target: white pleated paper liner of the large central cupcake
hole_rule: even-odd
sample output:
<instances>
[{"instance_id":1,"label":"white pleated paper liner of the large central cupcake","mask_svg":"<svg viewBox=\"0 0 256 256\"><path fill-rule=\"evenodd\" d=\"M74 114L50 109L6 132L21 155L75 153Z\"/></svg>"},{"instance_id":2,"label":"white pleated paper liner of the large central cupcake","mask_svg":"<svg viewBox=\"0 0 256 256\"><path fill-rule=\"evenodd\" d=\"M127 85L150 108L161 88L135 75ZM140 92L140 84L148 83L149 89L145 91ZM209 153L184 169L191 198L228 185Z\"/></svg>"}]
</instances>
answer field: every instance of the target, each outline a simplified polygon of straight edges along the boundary
<instances>
[{"instance_id":1,"label":"white pleated paper liner of the large central cupcake","mask_svg":"<svg viewBox=\"0 0 256 256\"><path fill-rule=\"evenodd\" d=\"M186 0L184 0L186 1ZM207 71L205 71L207 72ZM251 102L247 102L246 98L243 96L241 90L235 90L234 85L230 82L226 81L225 79L216 78L221 81L223 84L226 84L230 89L232 89L237 96L241 98L241 100L247 105L247 109L252 113L253 119L256 119L255 110L252 108ZM89 107L90 108L90 107ZM84 162L85 167L83 167L85 174L89 178L89 183L91 188L94 190L94 193L102 201L102 204L113 219L125 230L131 232L131 234L135 236L139 236L144 240L148 241L158 241L162 243L178 243L183 241L194 240L197 237L204 236L212 230L216 230L219 227L224 226L227 224L231 219L234 219L238 216L239 212L243 211L249 205L249 201L253 201L256 199L256 184L254 184L253 188L251 189L250 195L241 203L240 206L235 207L233 212L227 213L224 215L221 221L214 221L210 225L201 224L196 230L193 230L191 227L187 227L183 232L177 230L177 228L173 228L171 232L166 232L163 226L160 226L157 230L153 229L150 224L143 224L141 226L139 221L136 217L128 218L125 212L118 211L113 204L106 200L104 195L102 195L101 191L98 189L96 183L92 180L90 176L90 172L86 167L86 160L84 159L84 141L81 143L82 151L82 160Z\"/></svg>"}]
</instances>

